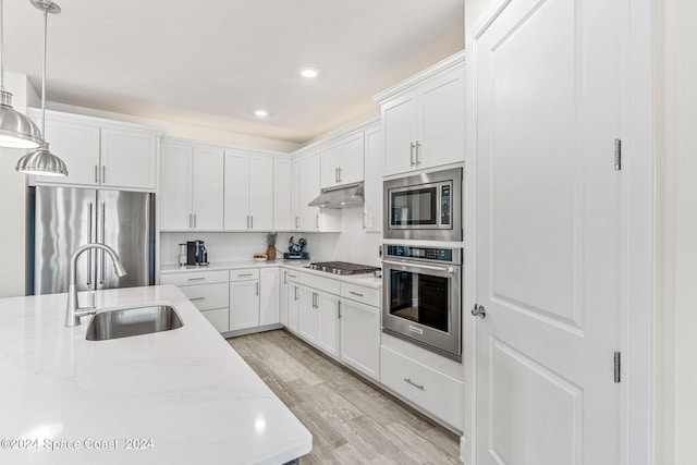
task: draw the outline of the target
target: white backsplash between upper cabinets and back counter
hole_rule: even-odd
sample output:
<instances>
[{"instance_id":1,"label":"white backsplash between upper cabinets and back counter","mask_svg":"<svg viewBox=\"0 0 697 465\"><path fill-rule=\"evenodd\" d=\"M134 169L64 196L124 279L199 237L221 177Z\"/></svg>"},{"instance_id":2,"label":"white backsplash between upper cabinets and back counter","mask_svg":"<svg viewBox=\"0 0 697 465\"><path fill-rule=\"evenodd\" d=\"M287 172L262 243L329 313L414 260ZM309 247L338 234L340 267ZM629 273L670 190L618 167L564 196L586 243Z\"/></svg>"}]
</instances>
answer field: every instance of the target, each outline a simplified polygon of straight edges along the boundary
<instances>
[{"instance_id":1,"label":"white backsplash between upper cabinets and back counter","mask_svg":"<svg viewBox=\"0 0 697 465\"><path fill-rule=\"evenodd\" d=\"M363 231L363 209L346 208L342 211L341 233L297 233L281 232L276 241L279 258L288 252L291 236L297 242L307 240L306 250L313 261L341 260L379 267L378 246L382 234ZM204 241L208 250L208 260L241 261L250 260L256 253L266 253L266 233L162 233L160 234L160 264L176 265L179 244L186 241Z\"/></svg>"}]
</instances>

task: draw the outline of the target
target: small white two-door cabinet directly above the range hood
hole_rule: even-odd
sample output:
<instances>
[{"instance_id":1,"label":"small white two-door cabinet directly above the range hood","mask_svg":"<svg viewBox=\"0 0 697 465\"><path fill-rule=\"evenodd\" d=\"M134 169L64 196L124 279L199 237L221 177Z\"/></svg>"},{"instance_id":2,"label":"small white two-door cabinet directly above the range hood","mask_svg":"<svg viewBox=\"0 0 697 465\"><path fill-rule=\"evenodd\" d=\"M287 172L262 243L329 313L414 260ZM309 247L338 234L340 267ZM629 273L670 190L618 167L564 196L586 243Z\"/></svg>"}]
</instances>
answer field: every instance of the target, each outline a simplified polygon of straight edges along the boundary
<instances>
[{"instance_id":1,"label":"small white two-door cabinet directly above the range hood","mask_svg":"<svg viewBox=\"0 0 697 465\"><path fill-rule=\"evenodd\" d=\"M321 148L321 188L363 181L363 131L347 135Z\"/></svg>"}]
</instances>

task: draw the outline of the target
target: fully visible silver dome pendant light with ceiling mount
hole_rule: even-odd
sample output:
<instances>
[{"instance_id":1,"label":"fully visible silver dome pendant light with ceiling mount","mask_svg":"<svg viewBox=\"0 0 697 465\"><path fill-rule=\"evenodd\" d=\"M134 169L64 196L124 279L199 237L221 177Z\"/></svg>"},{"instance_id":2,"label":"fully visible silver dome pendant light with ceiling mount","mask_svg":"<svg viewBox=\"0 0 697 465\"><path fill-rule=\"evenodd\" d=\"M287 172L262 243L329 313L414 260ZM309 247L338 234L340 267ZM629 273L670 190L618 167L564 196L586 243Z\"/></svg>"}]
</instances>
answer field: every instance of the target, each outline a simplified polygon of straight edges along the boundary
<instances>
[{"instance_id":1,"label":"fully visible silver dome pendant light with ceiling mount","mask_svg":"<svg viewBox=\"0 0 697 465\"><path fill-rule=\"evenodd\" d=\"M0 0L2 1L2 0ZM32 4L44 12L44 70L41 74L41 134L46 134L46 41L48 36L48 14L58 14L61 8L51 0L32 0ZM40 174L44 176L66 176L68 168L63 160L48 149L48 143L38 150L30 151L20 158L15 168L25 174Z\"/></svg>"}]
</instances>

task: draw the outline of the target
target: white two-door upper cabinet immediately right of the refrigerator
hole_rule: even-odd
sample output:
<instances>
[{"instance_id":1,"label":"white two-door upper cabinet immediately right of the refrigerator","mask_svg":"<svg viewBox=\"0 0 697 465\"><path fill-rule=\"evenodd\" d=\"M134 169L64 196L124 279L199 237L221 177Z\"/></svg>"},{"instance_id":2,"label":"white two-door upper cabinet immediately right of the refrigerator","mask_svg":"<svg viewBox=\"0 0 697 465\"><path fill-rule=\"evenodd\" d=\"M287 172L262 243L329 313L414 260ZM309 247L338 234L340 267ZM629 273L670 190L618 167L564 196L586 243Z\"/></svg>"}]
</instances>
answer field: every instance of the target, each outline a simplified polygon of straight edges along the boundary
<instances>
[{"instance_id":1,"label":"white two-door upper cabinet immediately right of the refrigerator","mask_svg":"<svg viewBox=\"0 0 697 465\"><path fill-rule=\"evenodd\" d=\"M162 142L160 229L222 231L223 151L184 142Z\"/></svg>"}]
</instances>

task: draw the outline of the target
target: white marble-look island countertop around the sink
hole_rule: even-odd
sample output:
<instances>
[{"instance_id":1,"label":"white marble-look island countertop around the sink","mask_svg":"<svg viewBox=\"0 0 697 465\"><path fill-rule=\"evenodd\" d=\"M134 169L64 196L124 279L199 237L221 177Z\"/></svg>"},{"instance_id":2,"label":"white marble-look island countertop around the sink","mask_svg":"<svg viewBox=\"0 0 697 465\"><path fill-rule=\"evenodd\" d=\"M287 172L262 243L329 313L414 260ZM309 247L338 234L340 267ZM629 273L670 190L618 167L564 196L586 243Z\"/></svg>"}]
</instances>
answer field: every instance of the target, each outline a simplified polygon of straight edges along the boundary
<instances>
[{"instance_id":1,"label":"white marble-look island countertop around the sink","mask_svg":"<svg viewBox=\"0 0 697 465\"><path fill-rule=\"evenodd\" d=\"M175 286L99 291L172 305L184 326L87 341L66 294L0 299L0 463L283 464L309 431ZM89 301L81 294L81 304Z\"/></svg>"}]
</instances>

